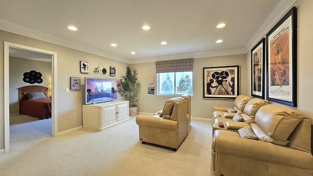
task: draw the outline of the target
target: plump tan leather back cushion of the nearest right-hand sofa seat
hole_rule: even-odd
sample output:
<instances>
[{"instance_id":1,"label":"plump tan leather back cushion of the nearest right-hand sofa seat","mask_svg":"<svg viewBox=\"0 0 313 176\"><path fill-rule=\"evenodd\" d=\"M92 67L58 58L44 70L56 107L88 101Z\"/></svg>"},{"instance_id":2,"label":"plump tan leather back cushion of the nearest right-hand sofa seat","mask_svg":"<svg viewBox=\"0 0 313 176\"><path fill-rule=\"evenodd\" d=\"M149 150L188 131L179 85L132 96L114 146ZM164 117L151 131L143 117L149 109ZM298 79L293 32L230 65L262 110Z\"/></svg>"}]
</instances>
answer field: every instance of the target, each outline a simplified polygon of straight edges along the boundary
<instances>
[{"instance_id":1,"label":"plump tan leather back cushion of the nearest right-hand sofa seat","mask_svg":"<svg viewBox=\"0 0 313 176\"><path fill-rule=\"evenodd\" d=\"M305 115L280 105L265 105L255 116L255 123L273 139L286 141Z\"/></svg>"}]
</instances>

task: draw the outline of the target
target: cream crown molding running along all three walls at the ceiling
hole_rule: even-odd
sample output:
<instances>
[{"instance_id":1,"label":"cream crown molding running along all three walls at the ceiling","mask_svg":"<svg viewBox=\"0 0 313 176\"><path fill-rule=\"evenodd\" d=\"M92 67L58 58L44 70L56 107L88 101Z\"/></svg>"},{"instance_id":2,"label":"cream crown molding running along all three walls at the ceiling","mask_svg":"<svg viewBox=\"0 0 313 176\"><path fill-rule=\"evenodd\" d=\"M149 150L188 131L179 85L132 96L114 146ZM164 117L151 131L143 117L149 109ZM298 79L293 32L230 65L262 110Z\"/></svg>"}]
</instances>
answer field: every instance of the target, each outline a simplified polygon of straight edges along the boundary
<instances>
[{"instance_id":1,"label":"cream crown molding running along all three walls at the ceiling","mask_svg":"<svg viewBox=\"0 0 313 176\"><path fill-rule=\"evenodd\" d=\"M140 64L140 63L151 63L163 60L174 60L181 58L205 58L205 57L216 57L216 56L227 56L236 54L246 54L249 50L257 44L261 38L263 38L270 28L283 17L283 15L291 8L291 6L297 0L280 0L277 5L270 12L266 20L262 23L260 28L254 33L251 39L247 42L244 48L234 48L227 50L216 50L216 51L206 51L197 53L185 53L185 54L175 54L160 57L150 57L150 58L139 58L139 59L126 59L120 56L116 56L110 53L100 51L98 49L92 48L84 44L78 44L54 35L50 35L41 31L37 31L20 24L13 22L8 22L0 19L0 29L15 34L23 35L26 37L38 39L52 44L58 44L68 48L76 49L79 51L84 51L90 54L106 57L112 60L124 62L127 64Z\"/></svg>"}]
</instances>

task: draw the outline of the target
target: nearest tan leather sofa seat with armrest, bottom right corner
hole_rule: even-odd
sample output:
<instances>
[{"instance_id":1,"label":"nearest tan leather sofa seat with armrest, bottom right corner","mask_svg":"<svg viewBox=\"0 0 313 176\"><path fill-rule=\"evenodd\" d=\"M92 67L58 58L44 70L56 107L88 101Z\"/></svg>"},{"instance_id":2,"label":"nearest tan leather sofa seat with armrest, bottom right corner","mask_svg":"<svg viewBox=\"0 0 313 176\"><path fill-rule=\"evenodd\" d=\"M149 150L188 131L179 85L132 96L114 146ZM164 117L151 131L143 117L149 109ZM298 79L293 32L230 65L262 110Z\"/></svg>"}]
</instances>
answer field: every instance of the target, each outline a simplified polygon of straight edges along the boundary
<instances>
[{"instance_id":1,"label":"nearest tan leather sofa seat with armrest, bottom right corner","mask_svg":"<svg viewBox=\"0 0 313 176\"><path fill-rule=\"evenodd\" d=\"M269 104L257 111L250 126L258 140L245 138L241 131L215 131L212 168L216 176L313 176L311 119Z\"/></svg>"}]
</instances>

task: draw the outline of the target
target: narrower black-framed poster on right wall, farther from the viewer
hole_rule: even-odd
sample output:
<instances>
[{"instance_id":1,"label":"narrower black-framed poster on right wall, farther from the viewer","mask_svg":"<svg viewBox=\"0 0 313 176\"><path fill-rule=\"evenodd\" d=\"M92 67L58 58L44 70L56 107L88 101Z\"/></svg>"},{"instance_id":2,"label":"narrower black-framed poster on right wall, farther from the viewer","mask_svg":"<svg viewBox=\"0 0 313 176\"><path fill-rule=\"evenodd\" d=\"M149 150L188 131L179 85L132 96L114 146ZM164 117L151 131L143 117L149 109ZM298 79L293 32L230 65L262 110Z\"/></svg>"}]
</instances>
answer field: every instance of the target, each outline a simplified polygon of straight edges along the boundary
<instances>
[{"instance_id":1,"label":"narrower black-framed poster on right wall, farther from the viewer","mask_svg":"<svg viewBox=\"0 0 313 176\"><path fill-rule=\"evenodd\" d=\"M251 49L251 96L265 98L265 38Z\"/></svg>"}]
</instances>

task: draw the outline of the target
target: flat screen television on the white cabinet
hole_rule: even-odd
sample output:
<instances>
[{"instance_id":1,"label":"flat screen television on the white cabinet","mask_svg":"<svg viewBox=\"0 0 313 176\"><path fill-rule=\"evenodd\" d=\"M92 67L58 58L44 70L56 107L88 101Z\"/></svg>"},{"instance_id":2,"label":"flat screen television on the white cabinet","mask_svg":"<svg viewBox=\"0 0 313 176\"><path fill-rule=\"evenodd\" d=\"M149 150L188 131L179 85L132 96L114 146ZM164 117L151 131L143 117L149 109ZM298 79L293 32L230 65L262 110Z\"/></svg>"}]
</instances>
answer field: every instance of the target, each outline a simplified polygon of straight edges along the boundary
<instances>
[{"instance_id":1,"label":"flat screen television on the white cabinet","mask_svg":"<svg viewBox=\"0 0 313 176\"><path fill-rule=\"evenodd\" d=\"M85 78L85 104L95 104L117 99L117 81L103 78Z\"/></svg>"}]
</instances>

